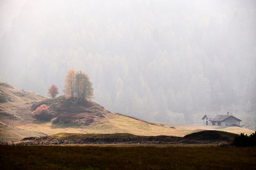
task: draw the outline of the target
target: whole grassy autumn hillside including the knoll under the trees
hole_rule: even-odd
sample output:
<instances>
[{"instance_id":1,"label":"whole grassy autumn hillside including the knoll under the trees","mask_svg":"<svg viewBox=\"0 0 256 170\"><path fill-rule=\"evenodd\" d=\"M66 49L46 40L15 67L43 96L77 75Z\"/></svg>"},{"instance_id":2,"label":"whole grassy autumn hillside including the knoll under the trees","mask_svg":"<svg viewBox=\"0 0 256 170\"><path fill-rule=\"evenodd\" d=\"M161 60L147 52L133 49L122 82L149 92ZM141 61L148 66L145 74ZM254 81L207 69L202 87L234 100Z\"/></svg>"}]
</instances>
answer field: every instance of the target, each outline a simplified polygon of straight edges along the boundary
<instances>
[{"instance_id":1,"label":"whole grassy autumn hillside including the knoll under the trees","mask_svg":"<svg viewBox=\"0 0 256 170\"><path fill-rule=\"evenodd\" d=\"M51 120L40 121L31 115L41 104L46 104L49 107L52 113ZM173 125L175 128L170 128ZM254 132L238 127L150 123L120 113L112 113L90 100L78 104L75 99L66 99L64 96L49 99L0 82L0 137L3 138L3 141L18 141L25 137L38 137L63 132L83 134L130 133L141 136L184 137L193 132L214 128L236 134Z\"/></svg>"}]
</instances>

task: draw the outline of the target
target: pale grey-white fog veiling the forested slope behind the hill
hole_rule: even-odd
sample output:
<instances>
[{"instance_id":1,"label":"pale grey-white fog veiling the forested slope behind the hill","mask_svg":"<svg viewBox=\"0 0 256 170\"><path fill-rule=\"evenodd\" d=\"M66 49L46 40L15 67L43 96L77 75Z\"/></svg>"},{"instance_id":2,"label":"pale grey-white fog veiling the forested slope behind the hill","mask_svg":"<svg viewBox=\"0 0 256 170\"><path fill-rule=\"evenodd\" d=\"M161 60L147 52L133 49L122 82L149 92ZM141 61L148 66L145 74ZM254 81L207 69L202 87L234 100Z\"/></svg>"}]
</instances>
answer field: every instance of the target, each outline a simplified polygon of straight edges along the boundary
<instances>
[{"instance_id":1,"label":"pale grey-white fog veiling the forested slope behind the hill","mask_svg":"<svg viewBox=\"0 0 256 170\"><path fill-rule=\"evenodd\" d=\"M255 0L1 0L0 81L63 95L70 68L94 101L145 120L256 124Z\"/></svg>"}]
</instances>

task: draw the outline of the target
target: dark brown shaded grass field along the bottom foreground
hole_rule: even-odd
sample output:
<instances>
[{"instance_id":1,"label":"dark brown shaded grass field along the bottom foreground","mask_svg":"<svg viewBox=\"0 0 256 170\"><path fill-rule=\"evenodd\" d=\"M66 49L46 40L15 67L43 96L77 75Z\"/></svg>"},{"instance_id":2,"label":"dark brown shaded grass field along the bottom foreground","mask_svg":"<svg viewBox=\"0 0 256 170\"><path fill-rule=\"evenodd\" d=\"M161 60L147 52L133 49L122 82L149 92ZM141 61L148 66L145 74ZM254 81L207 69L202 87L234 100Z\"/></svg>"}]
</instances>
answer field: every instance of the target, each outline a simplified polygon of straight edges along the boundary
<instances>
[{"instance_id":1,"label":"dark brown shaded grass field along the bottom foreground","mask_svg":"<svg viewBox=\"0 0 256 170\"><path fill-rule=\"evenodd\" d=\"M255 170L256 148L0 146L4 170Z\"/></svg>"}]
</instances>

